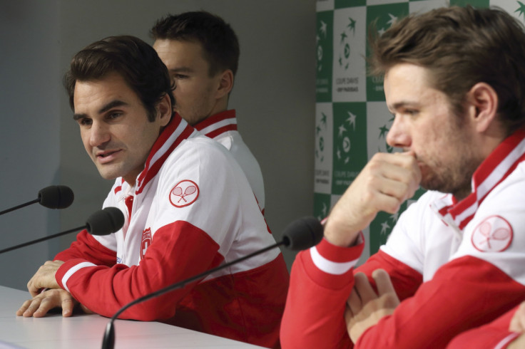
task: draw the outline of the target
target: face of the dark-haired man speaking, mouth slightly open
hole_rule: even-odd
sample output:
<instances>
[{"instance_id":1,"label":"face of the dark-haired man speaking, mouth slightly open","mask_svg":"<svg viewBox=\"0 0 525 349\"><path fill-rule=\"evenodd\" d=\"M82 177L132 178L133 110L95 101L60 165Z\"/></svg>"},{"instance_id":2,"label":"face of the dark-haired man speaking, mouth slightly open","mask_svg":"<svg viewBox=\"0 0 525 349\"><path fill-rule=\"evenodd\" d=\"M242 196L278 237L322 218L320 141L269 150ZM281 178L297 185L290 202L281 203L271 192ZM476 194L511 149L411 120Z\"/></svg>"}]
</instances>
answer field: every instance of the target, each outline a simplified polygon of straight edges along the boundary
<instances>
[{"instance_id":1,"label":"face of the dark-haired man speaking, mouth slightly open","mask_svg":"<svg viewBox=\"0 0 525 349\"><path fill-rule=\"evenodd\" d=\"M131 185L144 169L160 128L169 120L148 121L146 109L121 75L76 81L73 118L86 152L105 179L123 177Z\"/></svg>"}]
</instances>

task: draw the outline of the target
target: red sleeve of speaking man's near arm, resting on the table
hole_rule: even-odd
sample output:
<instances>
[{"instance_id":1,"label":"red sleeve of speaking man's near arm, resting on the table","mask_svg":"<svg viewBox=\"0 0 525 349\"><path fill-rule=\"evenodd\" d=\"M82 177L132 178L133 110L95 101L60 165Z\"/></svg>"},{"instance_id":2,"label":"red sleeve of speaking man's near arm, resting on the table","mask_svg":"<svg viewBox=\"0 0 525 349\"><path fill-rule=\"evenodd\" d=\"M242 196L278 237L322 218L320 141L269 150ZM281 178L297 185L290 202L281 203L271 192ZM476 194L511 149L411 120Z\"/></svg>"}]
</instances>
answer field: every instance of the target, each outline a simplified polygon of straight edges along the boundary
<instances>
[{"instance_id":1,"label":"red sleeve of speaking man's near arm, resting on the table","mask_svg":"<svg viewBox=\"0 0 525 349\"><path fill-rule=\"evenodd\" d=\"M138 266L94 266L83 259L71 259L58 269L56 281L91 311L111 317L136 298L218 266L223 260L218 249L205 231L178 221L156 231ZM192 287L139 303L119 318L141 321L171 318L178 301Z\"/></svg>"}]
</instances>

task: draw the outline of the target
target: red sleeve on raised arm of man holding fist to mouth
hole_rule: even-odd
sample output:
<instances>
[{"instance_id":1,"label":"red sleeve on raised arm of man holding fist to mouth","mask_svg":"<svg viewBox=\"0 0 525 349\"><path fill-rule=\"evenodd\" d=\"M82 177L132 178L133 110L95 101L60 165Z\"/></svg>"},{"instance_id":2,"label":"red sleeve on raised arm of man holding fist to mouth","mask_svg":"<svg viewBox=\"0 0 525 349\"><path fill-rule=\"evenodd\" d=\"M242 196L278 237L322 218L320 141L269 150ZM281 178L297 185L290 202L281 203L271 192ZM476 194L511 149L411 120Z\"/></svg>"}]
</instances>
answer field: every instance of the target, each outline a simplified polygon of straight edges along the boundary
<instances>
[{"instance_id":1,"label":"red sleeve on raised arm of man holding fist to mouth","mask_svg":"<svg viewBox=\"0 0 525 349\"><path fill-rule=\"evenodd\" d=\"M357 260L363 244L345 249L325 239L317 248L330 261ZM399 298L412 296L422 283L414 269L379 251L357 268L369 276L372 271L385 269ZM315 266L310 251L297 255L290 276L290 291L281 325L282 348L352 348L344 321L345 303L354 286L353 271L327 274ZM378 347L379 348L379 347Z\"/></svg>"}]
</instances>

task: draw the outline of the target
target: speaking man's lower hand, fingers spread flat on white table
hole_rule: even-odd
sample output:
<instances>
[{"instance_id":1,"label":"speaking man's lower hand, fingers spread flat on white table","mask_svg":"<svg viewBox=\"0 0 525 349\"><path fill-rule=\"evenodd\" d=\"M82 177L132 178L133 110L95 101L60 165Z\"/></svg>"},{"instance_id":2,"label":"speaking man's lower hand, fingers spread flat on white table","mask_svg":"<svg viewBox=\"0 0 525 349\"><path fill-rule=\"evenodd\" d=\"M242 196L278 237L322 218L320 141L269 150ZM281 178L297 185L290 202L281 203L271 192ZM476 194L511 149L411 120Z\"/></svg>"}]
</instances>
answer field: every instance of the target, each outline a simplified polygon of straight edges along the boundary
<instances>
[{"instance_id":1,"label":"speaking man's lower hand, fingers spread flat on white table","mask_svg":"<svg viewBox=\"0 0 525 349\"><path fill-rule=\"evenodd\" d=\"M41 318L53 308L62 308L62 316L73 315L73 308L78 302L71 296L71 293L61 288L51 289L40 293L33 299L29 299L22 304L16 311L17 316L28 318L34 316Z\"/></svg>"}]
</instances>

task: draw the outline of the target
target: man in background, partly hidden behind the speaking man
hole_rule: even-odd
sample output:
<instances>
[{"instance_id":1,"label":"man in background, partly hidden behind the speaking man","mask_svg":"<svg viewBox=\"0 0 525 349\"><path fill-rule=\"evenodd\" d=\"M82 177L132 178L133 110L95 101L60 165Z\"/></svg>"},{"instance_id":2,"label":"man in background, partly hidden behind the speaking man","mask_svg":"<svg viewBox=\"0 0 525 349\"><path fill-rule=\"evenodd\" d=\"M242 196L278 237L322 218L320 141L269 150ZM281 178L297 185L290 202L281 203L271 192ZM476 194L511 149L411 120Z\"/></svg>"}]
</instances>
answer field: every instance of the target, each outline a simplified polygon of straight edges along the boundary
<instances>
[{"instance_id":1,"label":"man in background, partly hidden behind the speaking man","mask_svg":"<svg viewBox=\"0 0 525 349\"><path fill-rule=\"evenodd\" d=\"M165 16L151 35L175 85L174 110L231 152L264 214L263 173L237 130L235 110L227 110L240 53L235 32L220 17L194 11Z\"/></svg>"}]
</instances>

